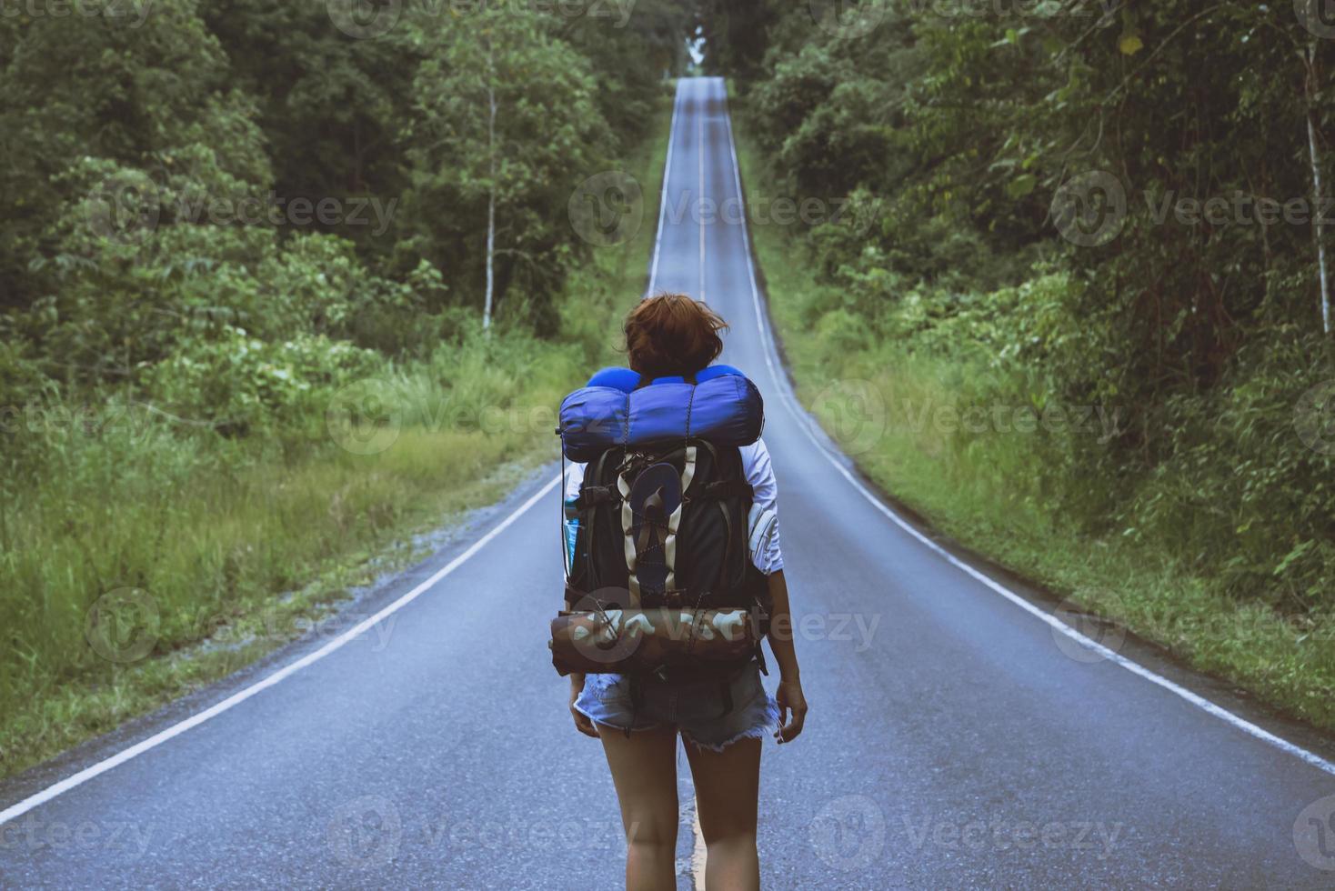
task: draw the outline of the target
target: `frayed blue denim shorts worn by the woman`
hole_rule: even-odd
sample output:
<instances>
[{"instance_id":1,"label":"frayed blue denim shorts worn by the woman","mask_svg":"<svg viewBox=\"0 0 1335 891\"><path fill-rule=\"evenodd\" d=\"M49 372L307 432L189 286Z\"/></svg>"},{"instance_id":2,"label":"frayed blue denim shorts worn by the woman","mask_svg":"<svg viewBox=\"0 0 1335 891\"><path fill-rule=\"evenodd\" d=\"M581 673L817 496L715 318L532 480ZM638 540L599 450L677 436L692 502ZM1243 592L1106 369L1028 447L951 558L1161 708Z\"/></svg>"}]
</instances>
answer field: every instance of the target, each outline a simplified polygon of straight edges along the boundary
<instances>
[{"instance_id":1,"label":"frayed blue denim shorts worn by the woman","mask_svg":"<svg viewBox=\"0 0 1335 891\"><path fill-rule=\"evenodd\" d=\"M757 662L702 680L643 678L641 690L637 707L626 675L589 675L575 708L622 731L672 724L686 742L716 752L740 739L762 739L778 724L778 704L761 686Z\"/></svg>"}]
</instances>

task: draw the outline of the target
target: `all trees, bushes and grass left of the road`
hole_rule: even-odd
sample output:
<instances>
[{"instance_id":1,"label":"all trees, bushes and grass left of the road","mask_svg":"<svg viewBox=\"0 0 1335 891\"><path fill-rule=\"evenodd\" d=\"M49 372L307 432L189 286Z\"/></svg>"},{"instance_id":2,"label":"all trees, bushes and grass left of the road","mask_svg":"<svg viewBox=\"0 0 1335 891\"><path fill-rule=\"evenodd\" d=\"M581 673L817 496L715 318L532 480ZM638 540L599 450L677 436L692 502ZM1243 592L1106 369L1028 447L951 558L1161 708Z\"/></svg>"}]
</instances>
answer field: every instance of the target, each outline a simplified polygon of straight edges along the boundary
<instances>
[{"instance_id":1,"label":"all trees, bushes and grass left of the road","mask_svg":"<svg viewBox=\"0 0 1335 891\"><path fill-rule=\"evenodd\" d=\"M0 19L0 776L318 630L554 456L643 288L677 5L328 5ZM571 201L605 171L638 228Z\"/></svg>"}]
</instances>

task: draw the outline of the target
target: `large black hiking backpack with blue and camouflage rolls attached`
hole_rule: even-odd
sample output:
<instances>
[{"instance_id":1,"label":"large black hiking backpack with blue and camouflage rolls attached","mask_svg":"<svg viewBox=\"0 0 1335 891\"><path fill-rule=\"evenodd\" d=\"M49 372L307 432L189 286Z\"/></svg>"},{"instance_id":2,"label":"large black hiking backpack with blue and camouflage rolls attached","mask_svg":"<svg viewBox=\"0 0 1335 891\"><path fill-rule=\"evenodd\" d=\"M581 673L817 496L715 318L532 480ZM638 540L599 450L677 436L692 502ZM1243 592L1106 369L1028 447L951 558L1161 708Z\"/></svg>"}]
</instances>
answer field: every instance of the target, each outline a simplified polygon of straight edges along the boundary
<instances>
[{"instance_id":1,"label":"large black hiking backpack with blue and camouflage rolls attached","mask_svg":"<svg viewBox=\"0 0 1335 891\"><path fill-rule=\"evenodd\" d=\"M768 587L748 547L740 452L764 423L754 384L586 387L561 421L565 455L589 460L553 623L557 670L685 676L757 656Z\"/></svg>"}]
</instances>

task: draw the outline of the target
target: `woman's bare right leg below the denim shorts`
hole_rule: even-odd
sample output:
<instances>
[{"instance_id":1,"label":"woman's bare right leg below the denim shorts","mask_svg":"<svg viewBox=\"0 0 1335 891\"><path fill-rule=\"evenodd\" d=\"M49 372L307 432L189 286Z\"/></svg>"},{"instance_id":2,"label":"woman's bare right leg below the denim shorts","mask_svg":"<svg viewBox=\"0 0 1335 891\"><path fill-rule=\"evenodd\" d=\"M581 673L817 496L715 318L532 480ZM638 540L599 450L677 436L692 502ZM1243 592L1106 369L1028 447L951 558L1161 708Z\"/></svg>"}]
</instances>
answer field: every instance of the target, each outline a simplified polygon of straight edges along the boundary
<instances>
[{"instance_id":1,"label":"woman's bare right leg below the denim shorts","mask_svg":"<svg viewBox=\"0 0 1335 891\"><path fill-rule=\"evenodd\" d=\"M705 835L706 888L760 888L756 854L760 742L741 739L721 752L686 743L700 830Z\"/></svg>"}]
</instances>

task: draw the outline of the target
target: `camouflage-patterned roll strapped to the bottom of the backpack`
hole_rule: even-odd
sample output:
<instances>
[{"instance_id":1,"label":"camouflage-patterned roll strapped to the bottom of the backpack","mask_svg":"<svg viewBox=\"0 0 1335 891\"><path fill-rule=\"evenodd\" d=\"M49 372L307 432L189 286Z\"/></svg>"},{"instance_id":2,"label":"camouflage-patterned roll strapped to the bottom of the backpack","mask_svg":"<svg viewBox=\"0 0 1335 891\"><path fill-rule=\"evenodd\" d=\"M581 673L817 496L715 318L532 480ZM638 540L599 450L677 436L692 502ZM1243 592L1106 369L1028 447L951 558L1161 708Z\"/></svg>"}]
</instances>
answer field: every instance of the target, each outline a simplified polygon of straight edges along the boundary
<instances>
[{"instance_id":1,"label":"camouflage-patterned roll strapped to the bottom of the backpack","mask_svg":"<svg viewBox=\"0 0 1335 891\"><path fill-rule=\"evenodd\" d=\"M561 675L597 675L742 663L754 655L762 624L758 611L744 607L562 612L551 620L551 664Z\"/></svg>"}]
</instances>

